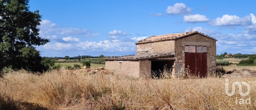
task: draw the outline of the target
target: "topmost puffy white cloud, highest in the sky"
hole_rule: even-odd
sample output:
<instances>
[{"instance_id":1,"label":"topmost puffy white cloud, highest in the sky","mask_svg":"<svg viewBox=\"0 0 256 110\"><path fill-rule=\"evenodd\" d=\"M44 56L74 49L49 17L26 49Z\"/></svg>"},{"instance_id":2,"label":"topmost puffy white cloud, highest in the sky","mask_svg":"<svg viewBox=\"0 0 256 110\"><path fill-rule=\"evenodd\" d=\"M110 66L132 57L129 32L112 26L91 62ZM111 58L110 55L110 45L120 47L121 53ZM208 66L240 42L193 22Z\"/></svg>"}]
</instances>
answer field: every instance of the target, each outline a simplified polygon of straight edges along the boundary
<instances>
[{"instance_id":1,"label":"topmost puffy white cloud, highest in the sky","mask_svg":"<svg viewBox=\"0 0 256 110\"><path fill-rule=\"evenodd\" d=\"M173 6L167 7L166 13L171 15L187 14L190 13L191 10L191 8L187 7L183 3L175 3Z\"/></svg>"}]
</instances>

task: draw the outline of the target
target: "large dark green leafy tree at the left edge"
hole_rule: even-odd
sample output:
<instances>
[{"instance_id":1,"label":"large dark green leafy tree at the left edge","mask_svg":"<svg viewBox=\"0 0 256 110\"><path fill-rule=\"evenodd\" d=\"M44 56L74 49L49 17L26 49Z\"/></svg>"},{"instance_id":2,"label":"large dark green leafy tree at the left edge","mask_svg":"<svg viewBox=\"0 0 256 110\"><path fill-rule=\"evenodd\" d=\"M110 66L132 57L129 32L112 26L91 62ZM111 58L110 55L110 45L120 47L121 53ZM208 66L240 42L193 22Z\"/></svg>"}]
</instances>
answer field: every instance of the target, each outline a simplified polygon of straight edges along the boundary
<instances>
[{"instance_id":1,"label":"large dark green leafy tree at the left edge","mask_svg":"<svg viewBox=\"0 0 256 110\"><path fill-rule=\"evenodd\" d=\"M29 0L0 0L0 70L3 67L43 71L42 57L34 46L49 39L39 37L41 15L29 10Z\"/></svg>"}]
</instances>

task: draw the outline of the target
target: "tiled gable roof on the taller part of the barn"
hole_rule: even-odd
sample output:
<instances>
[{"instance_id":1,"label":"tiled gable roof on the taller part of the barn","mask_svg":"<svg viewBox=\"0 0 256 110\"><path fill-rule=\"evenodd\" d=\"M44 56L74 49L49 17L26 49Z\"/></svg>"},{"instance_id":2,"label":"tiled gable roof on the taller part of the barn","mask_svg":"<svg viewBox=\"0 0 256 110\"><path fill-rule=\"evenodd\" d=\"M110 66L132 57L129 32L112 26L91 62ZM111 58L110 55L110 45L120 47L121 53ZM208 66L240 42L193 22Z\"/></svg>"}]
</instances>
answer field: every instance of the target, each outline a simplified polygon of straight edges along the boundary
<instances>
[{"instance_id":1,"label":"tiled gable roof on the taller part of the barn","mask_svg":"<svg viewBox=\"0 0 256 110\"><path fill-rule=\"evenodd\" d=\"M210 37L208 35L205 35L203 33L199 33L197 31L191 31L191 32L186 32L186 33L174 33L174 34L164 34L164 35L158 35L158 36L151 36L151 37L146 38L142 41L139 41L135 44L150 43L150 42L157 42L157 41L166 41L166 40L174 40L174 39L178 39L178 38L188 36L188 35L193 34L193 33L198 33L198 34L201 34L202 36L205 36L205 37L208 37L210 39L213 39L213 40L217 41L215 38Z\"/></svg>"}]
</instances>

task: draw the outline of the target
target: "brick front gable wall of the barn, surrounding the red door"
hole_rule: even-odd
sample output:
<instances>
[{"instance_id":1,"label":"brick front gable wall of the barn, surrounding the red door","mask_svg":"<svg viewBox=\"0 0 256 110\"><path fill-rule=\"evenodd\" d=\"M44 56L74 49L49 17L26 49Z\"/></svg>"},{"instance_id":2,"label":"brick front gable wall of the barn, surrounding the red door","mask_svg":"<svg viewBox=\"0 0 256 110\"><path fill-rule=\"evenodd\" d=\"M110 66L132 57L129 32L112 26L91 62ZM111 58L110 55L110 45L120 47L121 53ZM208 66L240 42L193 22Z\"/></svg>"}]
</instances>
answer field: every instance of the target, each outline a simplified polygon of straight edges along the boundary
<instances>
[{"instance_id":1,"label":"brick front gable wall of the barn, surrounding the red door","mask_svg":"<svg viewBox=\"0 0 256 110\"><path fill-rule=\"evenodd\" d=\"M216 71L216 41L194 33L187 37L182 37L175 40L175 53L177 60L175 61L175 73L184 70L185 68L185 45L190 46L207 46L207 74L215 73Z\"/></svg>"}]
</instances>

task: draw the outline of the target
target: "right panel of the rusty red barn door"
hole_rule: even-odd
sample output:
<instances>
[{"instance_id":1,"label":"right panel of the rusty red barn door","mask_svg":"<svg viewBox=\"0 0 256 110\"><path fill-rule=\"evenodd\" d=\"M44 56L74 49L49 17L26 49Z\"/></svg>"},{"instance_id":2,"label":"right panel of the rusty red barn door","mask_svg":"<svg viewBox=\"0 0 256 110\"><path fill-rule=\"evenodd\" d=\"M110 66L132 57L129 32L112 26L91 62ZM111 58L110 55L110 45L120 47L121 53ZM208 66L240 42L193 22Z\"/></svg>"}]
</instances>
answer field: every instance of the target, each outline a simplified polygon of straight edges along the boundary
<instances>
[{"instance_id":1,"label":"right panel of the rusty red barn door","mask_svg":"<svg viewBox=\"0 0 256 110\"><path fill-rule=\"evenodd\" d=\"M207 53L196 53L196 75L199 77L207 76Z\"/></svg>"}]
</instances>

